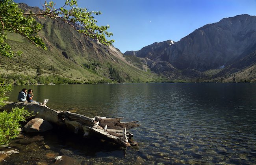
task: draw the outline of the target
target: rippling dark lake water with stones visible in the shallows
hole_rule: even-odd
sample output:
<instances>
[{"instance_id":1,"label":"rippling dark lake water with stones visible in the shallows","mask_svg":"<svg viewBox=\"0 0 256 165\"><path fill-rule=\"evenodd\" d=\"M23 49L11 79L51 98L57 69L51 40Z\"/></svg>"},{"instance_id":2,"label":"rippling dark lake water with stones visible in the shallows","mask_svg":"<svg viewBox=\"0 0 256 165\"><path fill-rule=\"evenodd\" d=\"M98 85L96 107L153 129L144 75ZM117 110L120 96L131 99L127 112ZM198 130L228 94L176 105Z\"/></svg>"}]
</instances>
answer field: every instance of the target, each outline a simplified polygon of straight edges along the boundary
<instances>
[{"instance_id":1,"label":"rippling dark lake water with stones visible in the shallows","mask_svg":"<svg viewBox=\"0 0 256 165\"><path fill-rule=\"evenodd\" d=\"M20 154L7 164L50 164L59 155L73 164L256 164L256 83L15 86L9 101L17 101L23 87L55 110L140 121L129 130L139 146L61 132L25 135L12 141Z\"/></svg>"}]
</instances>

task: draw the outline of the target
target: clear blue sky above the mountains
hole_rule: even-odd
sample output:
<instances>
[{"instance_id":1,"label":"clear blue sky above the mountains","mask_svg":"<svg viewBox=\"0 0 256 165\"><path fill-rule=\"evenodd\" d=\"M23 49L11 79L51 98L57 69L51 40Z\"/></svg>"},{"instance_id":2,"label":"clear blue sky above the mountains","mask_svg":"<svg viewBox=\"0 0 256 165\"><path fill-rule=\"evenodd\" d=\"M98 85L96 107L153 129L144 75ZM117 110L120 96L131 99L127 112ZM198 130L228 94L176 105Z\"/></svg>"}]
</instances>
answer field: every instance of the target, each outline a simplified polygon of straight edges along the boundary
<instances>
[{"instance_id":1,"label":"clear blue sky above the mountains","mask_svg":"<svg viewBox=\"0 0 256 165\"><path fill-rule=\"evenodd\" d=\"M14 0L42 7L45 0ZM49 1L49 0L47 0ZM65 0L53 0L56 7ZM256 0L78 0L78 7L101 11L98 25L109 24L113 45L140 50L154 42L179 41L205 24L241 14L256 15Z\"/></svg>"}]
</instances>

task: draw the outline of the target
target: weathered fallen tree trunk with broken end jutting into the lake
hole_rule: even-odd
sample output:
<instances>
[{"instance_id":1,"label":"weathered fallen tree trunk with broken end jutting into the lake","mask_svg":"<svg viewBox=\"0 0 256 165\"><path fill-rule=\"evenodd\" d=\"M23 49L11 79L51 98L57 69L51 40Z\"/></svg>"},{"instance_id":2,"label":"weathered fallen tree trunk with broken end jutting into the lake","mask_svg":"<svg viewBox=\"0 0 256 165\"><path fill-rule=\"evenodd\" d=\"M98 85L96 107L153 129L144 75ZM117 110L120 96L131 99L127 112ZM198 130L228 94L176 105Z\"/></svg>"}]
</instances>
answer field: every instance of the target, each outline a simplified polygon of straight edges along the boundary
<instances>
[{"instance_id":1,"label":"weathered fallen tree trunk with broken end jutting into the lake","mask_svg":"<svg viewBox=\"0 0 256 165\"><path fill-rule=\"evenodd\" d=\"M15 107L25 107L29 112L34 111L37 113L34 116L35 118L41 118L50 123L64 126L74 133L82 133L83 136L94 135L121 146L137 145L137 143L130 140L133 134L126 132L126 129L139 126L139 121L121 122L123 117L106 118L95 116L94 118L89 118L69 111L56 111L46 105L33 103L6 102L6 104L2 108L6 111L11 111Z\"/></svg>"}]
</instances>

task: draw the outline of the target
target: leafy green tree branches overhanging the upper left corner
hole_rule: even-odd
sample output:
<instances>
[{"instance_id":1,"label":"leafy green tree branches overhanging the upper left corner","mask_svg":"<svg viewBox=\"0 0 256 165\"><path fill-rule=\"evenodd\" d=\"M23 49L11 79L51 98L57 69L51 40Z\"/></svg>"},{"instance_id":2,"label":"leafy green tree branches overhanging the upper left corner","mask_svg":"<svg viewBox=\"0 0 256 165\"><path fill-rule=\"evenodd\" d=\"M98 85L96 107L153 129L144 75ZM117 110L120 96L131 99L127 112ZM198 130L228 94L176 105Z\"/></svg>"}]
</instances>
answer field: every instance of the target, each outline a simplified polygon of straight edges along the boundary
<instances>
[{"instance_id":1,"label":"leafy green tree branches overhanging the upper left corner","mask_svg":"<svg viewBox=\"0 0 256 165\"><path fill-rule=\"evenodd\" d=\"M0 55L12 57L15 54L9 44L6 43L5 32L19 33L23 37L28 38L33 44L46 49L45 43L37 35L43 26L37 23L34 17L60 19L69 24L77 32L83 33L92 39L98 39L103 44L108 45L114 42L114 40L106 39L106 37L113 35L113 33L107 32L109 25L96 25L97 20L92 15L100 15L100 12L87 11L86 8L79 8L77 6L77 0L66 0L65 4L58 9L55 9L54 6L54 2L50 1L47 3L45 1L44 9L39 13L33 13L32 11L24 12L13 0L1 0L0 18L3 32L0 32ZM71 8L66 9L67 6Z\"/></svg>"}]
</instances>

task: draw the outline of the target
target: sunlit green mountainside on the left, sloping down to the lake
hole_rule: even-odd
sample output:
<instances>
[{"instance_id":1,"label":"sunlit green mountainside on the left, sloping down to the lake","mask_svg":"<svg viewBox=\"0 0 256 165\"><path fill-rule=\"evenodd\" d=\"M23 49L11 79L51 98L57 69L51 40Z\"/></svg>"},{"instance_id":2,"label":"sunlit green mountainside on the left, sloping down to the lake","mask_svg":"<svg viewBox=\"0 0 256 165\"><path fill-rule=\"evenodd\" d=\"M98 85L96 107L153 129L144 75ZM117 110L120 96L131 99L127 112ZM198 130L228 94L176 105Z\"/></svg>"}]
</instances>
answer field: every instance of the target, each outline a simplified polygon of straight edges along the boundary
<instances>
[{"instance_id":1,"label":"sunlit green mountainside on the left, sloping down to the lake","mask_svg":"<svg viewBox=\"0 0 256 165\"><path fill-rule=\"evenodd\" d=\"M35 13L40 11L38 7L29 7L24 3L19 6ZM0 79L13 77L19 81L24 76L33 78L38 66L45 79L47 76L61 76L82 83L151 82L156 77L126 61L113 45L106 46L85 37L58 19L37 18L37 21L43 25L39 35L48 50L38 48L16 33L8 33L7 42L13 50L22 50L23 54L11 59L0 56Z\"/></svg>"}]
</instances>

